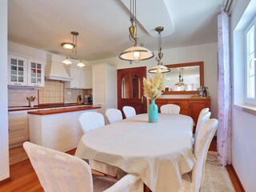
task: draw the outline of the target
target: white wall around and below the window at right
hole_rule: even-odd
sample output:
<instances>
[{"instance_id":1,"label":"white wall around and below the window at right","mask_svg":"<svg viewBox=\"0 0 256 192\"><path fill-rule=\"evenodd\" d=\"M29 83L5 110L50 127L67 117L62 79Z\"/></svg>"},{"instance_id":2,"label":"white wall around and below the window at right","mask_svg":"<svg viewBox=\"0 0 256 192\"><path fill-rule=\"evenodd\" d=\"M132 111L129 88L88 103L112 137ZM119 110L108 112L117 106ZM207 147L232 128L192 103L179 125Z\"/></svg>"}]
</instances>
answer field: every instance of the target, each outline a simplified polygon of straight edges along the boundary
<instances>
[{"instance_id":1,"label":"white wall around and below the window at right","mask_svg":"<svg viewBox=\"0 0 256 192\"><path fill-rule=\"evenodd\" d=\"M254 14L249 14L246 7L249 3ZM243 103L244 93L244 56L242 53L243 28L256 15L256 0L236 0L231 7L230 40L231 40L231 75L233 78L233 109L232 109L232 165L248 192L255 191L256 173L256 116L248 114L234 104ZM236 29L236 30L235 30ZM235 31L234 31L235 30ZM233 43L234 40L234 43Z\"/></svg>"}]
</instances>

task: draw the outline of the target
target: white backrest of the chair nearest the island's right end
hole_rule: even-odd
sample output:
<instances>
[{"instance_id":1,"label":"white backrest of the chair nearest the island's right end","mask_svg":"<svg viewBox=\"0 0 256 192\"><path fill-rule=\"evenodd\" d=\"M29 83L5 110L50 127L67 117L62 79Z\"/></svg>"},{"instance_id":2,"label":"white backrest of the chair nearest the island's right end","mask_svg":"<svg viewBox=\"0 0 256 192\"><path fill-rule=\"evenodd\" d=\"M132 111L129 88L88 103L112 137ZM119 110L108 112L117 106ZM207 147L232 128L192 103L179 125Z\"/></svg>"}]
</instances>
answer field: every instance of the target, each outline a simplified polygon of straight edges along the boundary
<instances>
[{"instance_id":1,"label":"white backrest of the chair nearest the island's right end","mask_svg":"<svg viewBox=\"0 0 256 192\"><path fill-rule=\"evenodd\" d=\"M97 112L84 112L80 115L79 122L84 134L89 130L105 126L103 115Z\"/></svg>"}]
</instances>

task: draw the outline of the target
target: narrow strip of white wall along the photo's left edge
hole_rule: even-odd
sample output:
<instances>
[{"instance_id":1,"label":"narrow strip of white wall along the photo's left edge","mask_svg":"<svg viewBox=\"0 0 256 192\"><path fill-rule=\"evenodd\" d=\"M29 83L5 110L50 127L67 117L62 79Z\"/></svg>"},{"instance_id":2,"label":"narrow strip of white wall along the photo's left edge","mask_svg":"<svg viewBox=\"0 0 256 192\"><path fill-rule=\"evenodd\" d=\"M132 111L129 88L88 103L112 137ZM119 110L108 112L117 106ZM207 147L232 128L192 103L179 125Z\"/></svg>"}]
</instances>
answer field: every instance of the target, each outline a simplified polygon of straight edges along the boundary
<instances>
[{"instance_id":1,"label":"narrow strip of white wall along the photo's left edge","mask_svg":"<svg viewBox=\"0 0 256 192\"><path fill-rule=\"evenodd\" d=\"M0 181L10 177L7 110L7 0L0 1Z\"/></svg>"}]
</instances>

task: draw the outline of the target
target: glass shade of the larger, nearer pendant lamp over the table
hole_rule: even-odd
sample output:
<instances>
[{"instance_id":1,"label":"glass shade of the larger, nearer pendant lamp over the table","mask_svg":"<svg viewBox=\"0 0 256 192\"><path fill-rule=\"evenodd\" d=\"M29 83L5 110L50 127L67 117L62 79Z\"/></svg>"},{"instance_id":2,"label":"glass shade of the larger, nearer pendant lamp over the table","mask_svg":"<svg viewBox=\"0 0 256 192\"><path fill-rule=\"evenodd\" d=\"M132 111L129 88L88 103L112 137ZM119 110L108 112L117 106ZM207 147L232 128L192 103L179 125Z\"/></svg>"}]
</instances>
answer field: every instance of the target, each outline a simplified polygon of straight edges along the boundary
<instances>
[{"instance_id":1,"label":"glass shade of the larger, nearer pendant lamp over the table","mask_svg":"<svg viewBox=\"0 0 256 192\"><path fill-rule=\"evenodd\" d=\"M132 46L119 55L119 58L122 60L134 62L139 62L153 57L154 53L143 46Z\"/></svg>"}]
</instances>

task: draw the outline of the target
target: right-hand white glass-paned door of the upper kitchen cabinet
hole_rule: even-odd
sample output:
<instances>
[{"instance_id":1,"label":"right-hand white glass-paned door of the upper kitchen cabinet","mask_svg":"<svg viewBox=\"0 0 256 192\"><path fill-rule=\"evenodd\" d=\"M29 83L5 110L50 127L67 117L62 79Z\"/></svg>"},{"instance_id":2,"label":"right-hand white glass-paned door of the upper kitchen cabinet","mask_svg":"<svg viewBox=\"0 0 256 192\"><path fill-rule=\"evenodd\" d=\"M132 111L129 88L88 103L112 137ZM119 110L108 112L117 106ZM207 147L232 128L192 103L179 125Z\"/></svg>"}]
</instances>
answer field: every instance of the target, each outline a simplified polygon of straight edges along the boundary
<instances>
[{"instance_id":1,"label":"right-hand white glass-paned door of the upper kitchen cabinet","mask_svg":"<svg viewBox=\"0 0 256 192\"><path fill-rule=\"evenodd\" d=\"M44 86L44 66L42 61L28 60L28 86Z\"/></svg>"}]
</instances>

